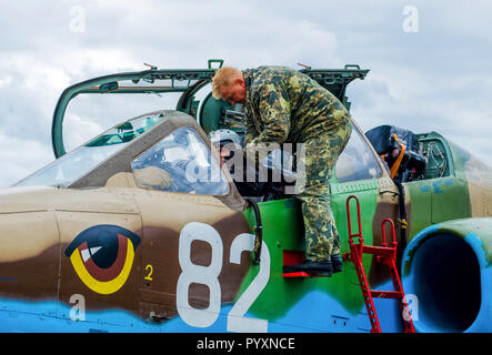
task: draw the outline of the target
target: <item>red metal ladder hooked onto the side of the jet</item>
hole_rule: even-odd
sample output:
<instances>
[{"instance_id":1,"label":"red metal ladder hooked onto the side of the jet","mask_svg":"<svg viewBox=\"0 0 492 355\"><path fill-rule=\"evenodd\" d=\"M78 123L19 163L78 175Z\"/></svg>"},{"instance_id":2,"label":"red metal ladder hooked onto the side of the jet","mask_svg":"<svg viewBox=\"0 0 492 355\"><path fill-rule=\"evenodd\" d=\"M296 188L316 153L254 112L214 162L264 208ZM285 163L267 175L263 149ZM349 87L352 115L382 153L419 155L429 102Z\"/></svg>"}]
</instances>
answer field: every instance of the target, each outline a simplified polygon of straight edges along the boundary
<instances>
[{"instance_id":1,"label":"red metal ladder hooked onto the side of the jet","mask_svg":"<svg viewBox=\"0 0 492 355\"><path fill-rule=\"evenodd\" d=\"M350 217L350 200L355 199L357 201L357 212L359 222L359 233L352 233L352 224ZM412 317L410 316L409 306L406 304L405 294L403 293L403 287L401 286L400 276L396 268L396 235L394 232L394 223L390 219L385 219L381 223L381 229L383 233L382 246L368 246L364 245L364 240L362 237L362 226L361 226L361 209L359 204L359 199L354 195L347 199L347 214L349 222L349 244L350 253L344 253L343 258L353 262L355 265L355 272L359 276L359 284L361 286L362 295L364 297L365 308L368 310L369 320L371 322L371 333L381 333L381 326L378 320L378 314L374 307L373 297L378 298L394 298L399 300L401 314L403 316L404 332L415 333L413 327ZM391 246L386 243L386 232L384 224L389 222L391 224L391 231L393 233L393 242ZM353 237L359 236L359 244L353 243ZM376 291L371 290L368 283L368 277L365 276L364 266L362 264L362 254L375 255L376 262L386 265L390 268L391 280L393 281L394 291Z\"/></svg>"}]
</instances>

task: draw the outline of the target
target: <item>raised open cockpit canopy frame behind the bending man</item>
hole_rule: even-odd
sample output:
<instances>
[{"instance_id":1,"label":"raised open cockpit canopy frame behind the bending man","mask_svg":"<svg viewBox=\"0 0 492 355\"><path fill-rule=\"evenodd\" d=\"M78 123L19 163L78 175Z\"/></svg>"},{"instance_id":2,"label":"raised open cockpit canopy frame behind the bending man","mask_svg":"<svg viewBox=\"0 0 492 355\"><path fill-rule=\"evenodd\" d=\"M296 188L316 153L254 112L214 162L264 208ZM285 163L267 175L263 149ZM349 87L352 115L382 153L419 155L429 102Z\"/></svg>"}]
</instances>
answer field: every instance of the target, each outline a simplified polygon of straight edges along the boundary
<instances>
[{"instance_id":1,"label":"raised open cockpit canopy frame behind the bending man","mask_svg":"<svg viewBox=\"0 0 492 355\"><path fill-rule=\"evenodd\" d=\"M99 132L104 130L106 120L111 114L117 115L120 121L143 112L174 109L194 118L205 133L223 128L242 133L243 126L241 120L238 120L243 115L241 105L232 106L225 101L215 100L211 95L210 88L207 88L222 64L223 60L211 59L207 69L151 67L150 70L140 72L94 78L67 88L58 100L53 113L51 139L54 156L60 158L66 154L68 149L64 138L77 134L63 132L63 122L67 123L69 103L77 106L74 102L78 100L83 104L77 106L79 111L74 114L76 119L79 123L86 120L96 122L101 126ZM300 71L330 90L348 109L350 109L350 102L345 97L348 84L354 79L364 79L369 72L361 70L359 65L345 65L343 69L305 68ZM78 100L73 100L76 98ZM83 112L83 116L80 112Z\"/></svg>"}]
</instances>

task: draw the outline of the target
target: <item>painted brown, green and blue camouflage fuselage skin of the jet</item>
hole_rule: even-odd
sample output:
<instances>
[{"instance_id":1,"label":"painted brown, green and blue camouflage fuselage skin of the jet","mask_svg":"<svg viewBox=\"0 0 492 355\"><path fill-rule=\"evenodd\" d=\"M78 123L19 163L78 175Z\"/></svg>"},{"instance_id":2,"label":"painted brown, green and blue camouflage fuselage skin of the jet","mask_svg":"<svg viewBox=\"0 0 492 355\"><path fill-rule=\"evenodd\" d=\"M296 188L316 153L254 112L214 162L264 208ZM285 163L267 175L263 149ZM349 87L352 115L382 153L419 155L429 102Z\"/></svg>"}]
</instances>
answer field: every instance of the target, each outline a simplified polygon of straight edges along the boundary
<instances>
[{"instance_id":1,"label":"painted brown, green and blue camouflage fuselage skin of the jet","mask_svg":"<svg viewBox=\"0 0 492 355\"><path fill-rule=\"evenodd\" d=\"M352 123L353 129L360 132ZM201 130L198 124L195 129ZM415 328L420 332L490 332L492 174L486 166L438 133L420 134L419 139L424 143L433 141L441 144L448 166L441 178L403 184L409 243L402 258L402 276L406 294L419 297ZM365 138L364 141L369 145ZM372 148L371 151L375 154ZM382 175L376 179L341 182L333 174L330 180L330 202L341 236L342 253L349 251L348 196L355 194L361 202L365 244L380 245L383 219L398 220L398 189L382 165L381 169ZM232 197L237 199L241 200L238 195ZM283 277L284 252L304 247L299 237L303 234L302 214L295 199L259 203L264 242L260 265L251 262L249 244L243 243L253 241L254 212L251 207L238 211L235 206L241 201L232 200L142 189L137 186L129 171L118 172L103 186L92 189L2 190L0 329L370 331L357 275L349 262L345 262L342 273L330 278ZM203 235L210 232L207 226L212 226L220 240L204 240L195 234L189 244L189 254L183 254L183 231L190 223L202 227ZM100 225L118 226L120 232L128 230L139 240L138 243L127 241L124 244L123 239L114 237L120 243L114 260L120 257L119 247L125 245L127 258L122 255L121 260L131 262L131 266L123 284L108 294L94 292L92 284L84 283L66 255L69 245L79 235ZM130 235L123 236L130 239ZM453 247L448 247L448 244ZM222 254L215 253L218 251ZM445 258L448 253L450 258ZM80 255L83 257L83 252ZM442 257L434 261L436 255ZM384 268L371 256L364 256L363 262L370 271L372 287L391 290ZM441 265L449 266L451 272L448 273ZM453 265L463 270L458 277L453 274L456 271ZM124 265L119 267L124 270ZM188 287L180 288L187 267L202 273L187 275ZM426 282L434 281L435 287L423 284L421 280L424 276ZM215 278L218 282L211 282ZM439 283L440 278L445 282ZM218 285L219 294L214 293ZM440 286L442 290L438 290ZM458 288L464 292L453 296ZM188 293L189 297L184 300L188 306L179 308L177 298L182 290ZM441 307L445 303L439 297L442 295L450 297L448 303L456 311L458 317L445 314L450 308ZM77 296L86 300L86 317L80 321L71 318L71 311L77 305L74 300L80 300ZM217 296L219 308L214 308L217 305L212 302ZM383 332L402 331L395 303L376 300L375 306ZM472 316L463 321L460 318L463 314ZM243 327L238 327L234 320Z\"/></svg>"}]
</instances>

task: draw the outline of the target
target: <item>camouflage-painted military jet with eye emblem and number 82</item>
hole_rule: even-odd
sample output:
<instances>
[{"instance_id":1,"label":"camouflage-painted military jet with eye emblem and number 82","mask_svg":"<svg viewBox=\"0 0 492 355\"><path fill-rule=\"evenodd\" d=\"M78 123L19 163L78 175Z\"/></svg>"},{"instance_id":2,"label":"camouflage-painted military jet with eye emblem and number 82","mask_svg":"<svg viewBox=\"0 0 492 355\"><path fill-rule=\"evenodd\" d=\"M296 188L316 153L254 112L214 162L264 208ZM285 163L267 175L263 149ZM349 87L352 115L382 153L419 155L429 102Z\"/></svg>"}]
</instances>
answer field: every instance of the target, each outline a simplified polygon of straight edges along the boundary
<instances>
[{"instance_id":1,"label":"camouflage-painted military jet with eye emblem and number 82","mask_svg":"<svg viewBox=\"0 0 492 355\"><path fill-rule=\"evenodd\" d=\"M222 61L63 91L52 123L57 160L0 192L0 331L373 331L351 261L332 277L282 273L304 250L300 205L278 185L248 199L220 166L207 133L241 133L242 113L211 94L197 99L214 63ZM301 71L349 109L347 85L369 72ZM180 93L175 110L142 112L66 153L62 123L76 97L171 92ZM179 179L187 164L218 179ZM350 252L349 196L360 202L365 245L381 245L382 222L394 221L416 332L492 329L491 176L439 133L388 125L365 135L353 122L330 181L342 253ZM378 257L362 261L371 288L391 291ZM374 306L382 332L404 329L396 300Z\"/></svg>"}]
</instances>

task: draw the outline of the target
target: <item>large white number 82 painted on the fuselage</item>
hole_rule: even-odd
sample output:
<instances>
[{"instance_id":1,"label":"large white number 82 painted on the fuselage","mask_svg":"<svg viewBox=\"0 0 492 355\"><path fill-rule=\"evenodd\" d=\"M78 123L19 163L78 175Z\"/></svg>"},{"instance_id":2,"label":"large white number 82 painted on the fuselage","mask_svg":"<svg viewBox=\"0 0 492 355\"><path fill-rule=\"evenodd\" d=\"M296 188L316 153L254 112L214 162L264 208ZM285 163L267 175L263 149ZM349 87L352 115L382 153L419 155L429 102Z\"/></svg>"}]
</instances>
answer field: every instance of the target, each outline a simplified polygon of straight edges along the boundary
<instances>
[{"instance_id":1,"label":"large white number 82 painted on the fuselage","mask_svg":"<svg viewBox=\"0 0 492 355\"><path fill-rule=\"evenodd\" d=\"M210 244L212 248L212 258L209 266L197 265L191 262L191 243L193 241L203 241ZM230 262L241 263L241 253L243 251L253 251L254 235L249 233L239 234L231 245ZM180 234L179 243L179 263L182 273L178 280L177 286L177 308L181 318L189 325L195 327L211 326L219 317L221 306L221 288L219 274L222 270L223 245L217 230L208 224L191 222L187 224ZM268 332L268 321L244 317L244 314L258 298L270 278L270 253L267 244L261 246L260 271L242 293L241 297L228 314L229 332ZM190 284L202 284L209 288L210 303L204 310L193 308L189 303Z\"/></svg>"}]
</instances>

